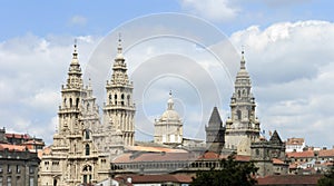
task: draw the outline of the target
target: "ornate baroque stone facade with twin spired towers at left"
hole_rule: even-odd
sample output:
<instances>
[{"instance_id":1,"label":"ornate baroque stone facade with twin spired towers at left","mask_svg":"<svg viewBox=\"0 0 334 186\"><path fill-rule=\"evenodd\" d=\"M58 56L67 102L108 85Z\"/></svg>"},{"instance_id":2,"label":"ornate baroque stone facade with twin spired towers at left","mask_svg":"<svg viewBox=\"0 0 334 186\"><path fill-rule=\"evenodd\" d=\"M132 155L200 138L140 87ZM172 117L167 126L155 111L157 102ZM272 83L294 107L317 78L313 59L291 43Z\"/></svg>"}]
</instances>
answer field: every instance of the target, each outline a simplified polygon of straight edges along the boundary
<instances>
[{"instance_id":1,"label":"ornate baroque stone facade with twin spired towers at left","mask_svg":"<svg viewBox=\"0 0 334 186\"><path fill-rule=\"evenodd\" d=\"M134 145L132 84L128 80L121 41L107 81L104 123L99 117L90 82L84 86L77 46L61 87L58 130L42 155L40 185L75 186L109 177L110 159Z\"/></svg>"}]
</instances>

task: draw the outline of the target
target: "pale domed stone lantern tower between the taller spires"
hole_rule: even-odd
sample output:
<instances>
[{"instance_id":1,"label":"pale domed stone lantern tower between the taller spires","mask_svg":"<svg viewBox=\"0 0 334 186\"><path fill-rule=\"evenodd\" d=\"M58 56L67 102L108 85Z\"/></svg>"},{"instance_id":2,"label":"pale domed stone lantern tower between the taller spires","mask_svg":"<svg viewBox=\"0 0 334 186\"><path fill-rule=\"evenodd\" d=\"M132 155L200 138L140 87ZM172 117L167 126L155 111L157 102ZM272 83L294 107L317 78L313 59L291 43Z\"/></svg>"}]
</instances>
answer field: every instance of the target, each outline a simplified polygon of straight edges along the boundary
<instances>
[{"instance_id":1,"label":"pale domed stone lantern tower between the taller spires","mask_svg":"<svg viewBox=\"0 0 334 186\"><path fill-rule=\"evenodd\" d=\"M159 119L155 120L154 140L157 144L177 146L183 143L183 123L174 109L171 91L167 101L167 109Z\"/></svg>"}]
</instances>

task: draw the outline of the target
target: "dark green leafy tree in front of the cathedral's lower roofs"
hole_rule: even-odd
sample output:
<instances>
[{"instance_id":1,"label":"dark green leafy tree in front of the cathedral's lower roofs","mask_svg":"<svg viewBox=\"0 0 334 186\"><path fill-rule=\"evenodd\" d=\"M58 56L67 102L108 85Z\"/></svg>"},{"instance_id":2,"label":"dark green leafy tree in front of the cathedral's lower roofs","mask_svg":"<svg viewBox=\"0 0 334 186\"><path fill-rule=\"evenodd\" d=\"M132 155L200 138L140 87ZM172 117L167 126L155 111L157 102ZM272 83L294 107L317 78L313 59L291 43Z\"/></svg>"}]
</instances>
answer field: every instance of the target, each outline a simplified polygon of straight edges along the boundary
<instances>
[{"instance_id":1,"label":"dark green leafy tree in front of the cathedral's lower roofs","mask_svg":"<svg viewBox=\"0 0 334 186\"><path fill-rule=\"evenodd\" d=\"M232 154L220 161L220 168L196 173L191 186L253 186L257 169L253 163L236 161L235 154Z\"/></svg>"}]
</instances>

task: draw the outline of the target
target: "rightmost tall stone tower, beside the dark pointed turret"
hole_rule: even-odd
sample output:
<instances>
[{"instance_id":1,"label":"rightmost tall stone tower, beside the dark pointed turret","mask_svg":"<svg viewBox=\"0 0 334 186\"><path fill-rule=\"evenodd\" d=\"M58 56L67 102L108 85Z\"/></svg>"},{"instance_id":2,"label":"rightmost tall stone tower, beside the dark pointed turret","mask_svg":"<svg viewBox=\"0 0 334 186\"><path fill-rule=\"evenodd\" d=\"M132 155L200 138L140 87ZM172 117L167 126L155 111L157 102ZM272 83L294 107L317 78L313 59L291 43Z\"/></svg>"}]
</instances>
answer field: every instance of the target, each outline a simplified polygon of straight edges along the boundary
<instances>
[{"instance_id":1,"label":"rightmost tall stone tower, beside the dark pointed turret","mask_svg":"<svg viewBox=\"0 0 334 186\"><path fill-rule=\"evenodd\" d=\"M240 69L236 76L235 90L230 98L230 115L226 121L225 146L239 155L250 155L250 144L259 137L259 121L255 115L255 98L242 52Z\"/></svg>"}]
</instances>

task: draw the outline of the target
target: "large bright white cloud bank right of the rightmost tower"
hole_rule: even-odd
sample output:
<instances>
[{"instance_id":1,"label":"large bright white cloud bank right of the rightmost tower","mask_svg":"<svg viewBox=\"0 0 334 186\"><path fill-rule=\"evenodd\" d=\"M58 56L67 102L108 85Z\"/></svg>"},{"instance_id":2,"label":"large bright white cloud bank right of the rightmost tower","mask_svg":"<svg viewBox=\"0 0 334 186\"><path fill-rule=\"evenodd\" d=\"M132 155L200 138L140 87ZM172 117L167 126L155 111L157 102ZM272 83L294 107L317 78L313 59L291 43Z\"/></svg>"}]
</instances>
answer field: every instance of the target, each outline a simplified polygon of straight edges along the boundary
<instances>
[{"instance_id":1,"label":"large bright white cloud bank right of the rightmost tower","mask_svg":"<svg viewBox=\"0 0 334 186\"><path fill-rule=\"evenodd\" d=\"M334 144L334 25L326 21L252 26L230 36L246 46L263 127L311 145ZM316 133L315 133L316 131Z\"/></svg>"}]
</instances>

